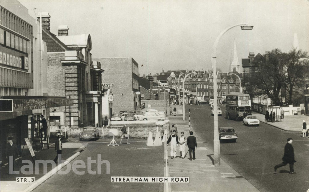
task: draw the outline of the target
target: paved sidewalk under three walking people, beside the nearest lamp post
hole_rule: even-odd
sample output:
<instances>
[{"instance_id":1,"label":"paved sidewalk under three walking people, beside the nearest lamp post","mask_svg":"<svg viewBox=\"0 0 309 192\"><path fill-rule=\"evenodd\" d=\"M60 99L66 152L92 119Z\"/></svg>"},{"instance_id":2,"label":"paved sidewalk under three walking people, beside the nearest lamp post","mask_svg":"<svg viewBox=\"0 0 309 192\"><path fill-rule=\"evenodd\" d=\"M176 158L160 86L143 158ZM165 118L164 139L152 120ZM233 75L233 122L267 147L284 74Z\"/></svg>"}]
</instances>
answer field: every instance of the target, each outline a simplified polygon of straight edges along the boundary
<instances>
[{"instance_id":1,"label":"paved sidewalk under three walking people, beside the nearest lamp post","mask_svg":"<svg viewBox=\"0 0 309 192\"><path fill-rule=\"evenodd\" d=\"M178 125L178 117L170 117L170 122L175 123L178 129L178 134L184 131L186 137L189 136L188 125ZM170 158L170 145L167 146L167 154L169 156L169 173L170 176L190 177L190 183L171 183L171 191L259 191L250 182L244 179L239 173L232 169L221 159L220 166L214 166L212 149L207 148L198 135L197 149L195 150L196 160L189 160L187 153L184 159L180 158L180 153L177 150L177 158ZM188 146L186 151L188 151Z\"/></svg>"}]
</instances>

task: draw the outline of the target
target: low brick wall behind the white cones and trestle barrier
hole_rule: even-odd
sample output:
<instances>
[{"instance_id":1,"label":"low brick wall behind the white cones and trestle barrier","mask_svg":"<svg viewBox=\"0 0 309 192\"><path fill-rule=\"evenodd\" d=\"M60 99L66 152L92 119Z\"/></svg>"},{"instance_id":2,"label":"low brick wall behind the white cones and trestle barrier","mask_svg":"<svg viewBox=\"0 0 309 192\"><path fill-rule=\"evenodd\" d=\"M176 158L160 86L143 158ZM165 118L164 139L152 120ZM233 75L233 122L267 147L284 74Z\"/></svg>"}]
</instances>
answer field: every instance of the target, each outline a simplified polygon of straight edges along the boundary
<instances>
[{"instance_id":1,"label":"low brick wall behind the white cones and trestle barrier","mask_svg":"<svg viewBox=\"0 0 309 192\"><path fill-rule=\"evenodd\" d=\"M121 136L121 128L122 126L109 126L109 127L104 127L104 137L108 137L108 132L109 129L117 129L118 130L118 136ZM56 136L56 131L59 130L58 126L50 126L50 136L55 137ZM158 126L159 132L164 130L167 130L167 133L169 133L170 125L169 123L163 125L163 126ZM65 131L67 133L67 137L72 137L72 138L77 138L78 134L83 131L83 128L79 128L77 126L61 126L61 130L63 134L65 134ZM149 125L149 124L144 124L144 125L132 125L129 126L129 137L133 138L148 138L149 131L152 132L152 136L155 137L157 127L155 125ZM102 137L102 127L99 127L99 135Z\"/></svg>"}]
</instances>

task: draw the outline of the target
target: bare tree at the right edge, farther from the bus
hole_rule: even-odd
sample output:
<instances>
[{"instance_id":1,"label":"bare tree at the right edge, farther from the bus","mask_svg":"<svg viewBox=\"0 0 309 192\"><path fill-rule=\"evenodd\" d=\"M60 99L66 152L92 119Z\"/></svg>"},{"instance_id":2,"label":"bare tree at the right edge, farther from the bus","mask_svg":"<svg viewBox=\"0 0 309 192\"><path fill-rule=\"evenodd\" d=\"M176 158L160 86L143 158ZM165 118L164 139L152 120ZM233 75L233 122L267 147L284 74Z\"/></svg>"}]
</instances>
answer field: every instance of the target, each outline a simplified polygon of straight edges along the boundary
<instances>
[{"instance_id":1,"label":"bare tree at the right edge, farther from the bus","mask_svg":"<svg viewBox=\"0 0 309 192\"><path fill-rule=\"evenodd\" d=\"M282 54L282 62L286 70L285 85L289 96L288 104L298 105L300 98L294 98L294 93L296 96L301 96L303 92L303 86L305 84L305 79L309 74L309 67L304 66L302 63L298 62L301 57L307 57L307 52L302 52L301 50L293 49L288 53ZM301 95L299 95L301 94ZM301 97L303 98L303 97Z\"/></svg>"}]
</instances>

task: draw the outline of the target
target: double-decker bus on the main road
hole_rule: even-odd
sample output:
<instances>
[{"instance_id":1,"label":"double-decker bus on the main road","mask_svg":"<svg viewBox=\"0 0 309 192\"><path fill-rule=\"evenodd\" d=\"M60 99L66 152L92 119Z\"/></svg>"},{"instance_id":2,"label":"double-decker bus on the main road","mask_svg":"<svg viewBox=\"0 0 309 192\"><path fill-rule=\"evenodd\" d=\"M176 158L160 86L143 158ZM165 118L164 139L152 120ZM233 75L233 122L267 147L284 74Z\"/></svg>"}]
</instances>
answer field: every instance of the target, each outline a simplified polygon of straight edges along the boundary
<instances>
[{"instance_id":1,"label":"double-decker bus on the main road","mask_svg":"<svg viewBox=\"0 0 309 192\"><path fill-rule=\"evenodd\" d=\"M226 95L225 117L227 119L242 120L251 115L251 100L249 94L232 92Z\"/></svg>"}]
</instances>

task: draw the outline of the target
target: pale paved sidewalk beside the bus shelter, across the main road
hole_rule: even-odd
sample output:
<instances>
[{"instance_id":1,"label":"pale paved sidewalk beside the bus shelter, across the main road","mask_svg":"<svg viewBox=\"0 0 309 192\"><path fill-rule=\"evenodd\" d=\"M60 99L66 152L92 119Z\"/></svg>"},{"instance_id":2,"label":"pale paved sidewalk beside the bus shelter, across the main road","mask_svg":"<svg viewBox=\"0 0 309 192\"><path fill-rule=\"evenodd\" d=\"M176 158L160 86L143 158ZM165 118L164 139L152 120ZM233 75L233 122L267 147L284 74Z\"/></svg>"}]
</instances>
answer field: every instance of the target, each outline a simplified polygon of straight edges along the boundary
<instances>
[{"instance_id":1,"label":"pale paved sidewalk beside the bus shelter, across the main road","mask_svg":"<svg viewBox=\"0 0 309 192\"><path fill-rule=\"evenodd\" d=\"M285 131L301 132L303 127L303 120L305 120L307 124L309 123L309 116L307 115L285 115L284 119L278 119L276 122L265 122L265 115L254 111L252 111L252 115L255 115L257 119L260 120L260 122L269 124L279 129L283 129Z\"/></svg>"}]
</instances>

